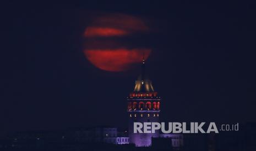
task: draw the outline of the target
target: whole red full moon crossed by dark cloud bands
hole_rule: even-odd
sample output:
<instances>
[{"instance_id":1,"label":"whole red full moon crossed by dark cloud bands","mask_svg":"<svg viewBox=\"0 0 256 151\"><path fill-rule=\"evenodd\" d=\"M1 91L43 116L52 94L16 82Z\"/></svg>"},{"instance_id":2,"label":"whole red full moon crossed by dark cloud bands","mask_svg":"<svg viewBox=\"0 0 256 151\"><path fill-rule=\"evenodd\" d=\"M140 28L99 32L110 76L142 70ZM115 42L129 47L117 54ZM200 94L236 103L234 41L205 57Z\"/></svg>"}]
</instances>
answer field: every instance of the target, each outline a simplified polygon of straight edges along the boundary
<instances>
[{"instance_id":1,"label":"whole red full moon crossed by dark cloud bands","mask_svg":"<svg viewBox=\"0 0 256 151\"><path fill-rule=\"evenodd\" d=\"M144 33L148 27L139 18L112 14L95 18L85 29L84 54L95 67L111 72L126 71L150 55L149 48L126 47L119 38ZM88 42L89 41L89 42Z\"/></svg>"}]
</instances>

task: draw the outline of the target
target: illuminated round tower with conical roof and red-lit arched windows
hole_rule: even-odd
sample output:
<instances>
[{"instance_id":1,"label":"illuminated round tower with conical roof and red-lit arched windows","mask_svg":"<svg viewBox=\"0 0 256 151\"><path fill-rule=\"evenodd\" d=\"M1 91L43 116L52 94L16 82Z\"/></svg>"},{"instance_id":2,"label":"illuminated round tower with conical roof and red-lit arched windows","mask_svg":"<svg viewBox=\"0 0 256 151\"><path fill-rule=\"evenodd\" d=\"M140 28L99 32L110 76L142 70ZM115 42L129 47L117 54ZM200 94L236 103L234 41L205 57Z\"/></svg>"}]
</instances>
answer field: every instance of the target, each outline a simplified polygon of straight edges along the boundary
<instances>
[{"instance_id":1,"label":"illuminated round tower with conical roof and red-lit arched windows","mask_svg":"<svg viewBox=\"0 0 256 151\"><path fill-rule=\"evenodd\" d=\"M133 92L127 97L129 119L129 142L138 147L150 146L151 137L159 137L159 131L155 133L134 133L134 122L159 122L160 97L152 86L151 80L145 75L145 60L143 59L141 75L135 81Z\"/></svg>"}]
</instances>

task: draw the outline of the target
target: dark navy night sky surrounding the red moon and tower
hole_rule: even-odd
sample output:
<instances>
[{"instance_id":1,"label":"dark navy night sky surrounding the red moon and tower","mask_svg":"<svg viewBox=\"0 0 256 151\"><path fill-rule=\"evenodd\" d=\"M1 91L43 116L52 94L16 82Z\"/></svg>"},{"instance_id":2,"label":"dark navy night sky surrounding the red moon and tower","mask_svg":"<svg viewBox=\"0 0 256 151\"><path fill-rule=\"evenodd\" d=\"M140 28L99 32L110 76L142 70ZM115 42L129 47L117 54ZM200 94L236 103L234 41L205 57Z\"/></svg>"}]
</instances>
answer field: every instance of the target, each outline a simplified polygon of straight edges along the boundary
<instances>
[{"instance_id":1,"label":"dark navy night sky surrounding the red moon and tower","mask_svg":"<svg viewBox=\"0 0 256 151\"><path fill-rule=\"evenodd\" d=\"M146 68L162 97L162 119L256 120L255 2L3 6L0 136L127 126L126 97L140 65L116 73L86 60L83 32L99 12L137 16L157 31L141 43L152 49Z\"/></svg>"}]
</instances>

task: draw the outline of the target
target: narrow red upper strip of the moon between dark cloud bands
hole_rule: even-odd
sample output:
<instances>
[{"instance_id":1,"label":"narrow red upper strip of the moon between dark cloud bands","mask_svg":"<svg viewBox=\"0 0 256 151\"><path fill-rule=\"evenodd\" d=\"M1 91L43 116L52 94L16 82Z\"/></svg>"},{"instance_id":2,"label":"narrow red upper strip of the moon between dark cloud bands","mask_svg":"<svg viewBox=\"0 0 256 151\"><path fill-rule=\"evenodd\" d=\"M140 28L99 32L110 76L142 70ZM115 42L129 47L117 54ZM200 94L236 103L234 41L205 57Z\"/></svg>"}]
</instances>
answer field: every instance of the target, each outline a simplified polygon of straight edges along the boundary
<instances>
[{"instance_id":1,"label":"narrow red upper strip of the moon between dark cloud bands","mask_svg":"<svg viewBox=\"0 0 256 151\"><path fill-rule=\"evenodd\" d=\"M87 27L85 31L85 37L124 36L126 34L128 34L127 31L110 27Z\"/></svg>"}]
</instances>

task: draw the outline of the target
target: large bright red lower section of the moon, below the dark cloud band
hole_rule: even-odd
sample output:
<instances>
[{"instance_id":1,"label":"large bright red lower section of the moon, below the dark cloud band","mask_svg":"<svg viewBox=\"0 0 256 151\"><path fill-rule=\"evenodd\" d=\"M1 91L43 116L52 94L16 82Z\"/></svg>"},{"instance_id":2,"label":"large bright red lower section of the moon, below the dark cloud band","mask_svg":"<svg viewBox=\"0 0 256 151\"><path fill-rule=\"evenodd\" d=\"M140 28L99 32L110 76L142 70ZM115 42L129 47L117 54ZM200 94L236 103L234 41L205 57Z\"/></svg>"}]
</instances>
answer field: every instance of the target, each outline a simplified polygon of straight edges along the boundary
<instances>
[{"instance_id":1,"label":"large bright red lower section of the moon, below the dark cloud band","mask_svg":"<svg viewBox=\"0 0 256 151\"><path fill-rule=\"evenodd\" d=\"M116 50L84 50L88 60L96 67L105 71L124 71L133 63L141 62L150 54L149 49L116 49Z\"/></svg>"}]
</instances>

